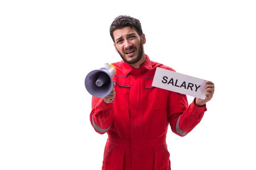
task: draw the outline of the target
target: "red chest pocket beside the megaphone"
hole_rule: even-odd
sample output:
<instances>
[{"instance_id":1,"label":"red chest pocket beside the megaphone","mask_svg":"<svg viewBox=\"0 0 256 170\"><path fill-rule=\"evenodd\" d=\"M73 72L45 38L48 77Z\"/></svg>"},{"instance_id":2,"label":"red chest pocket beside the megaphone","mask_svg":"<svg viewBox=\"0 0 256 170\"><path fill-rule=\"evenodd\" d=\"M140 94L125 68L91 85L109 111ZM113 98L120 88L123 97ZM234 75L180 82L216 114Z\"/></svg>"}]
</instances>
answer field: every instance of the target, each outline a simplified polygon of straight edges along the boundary
<instances>
[{"instance_id":1,"label":"red chest pocket beside the megaphone","mask_svg":"<svg viewBox=\"0 0 256 170\"><path fill-rule=\"evenodd\" d=\"M125 111L129 107L130 95L130 77L115 77L116 97L114 99L113 108L120 111Z\"/></svg>"}]
</instances>

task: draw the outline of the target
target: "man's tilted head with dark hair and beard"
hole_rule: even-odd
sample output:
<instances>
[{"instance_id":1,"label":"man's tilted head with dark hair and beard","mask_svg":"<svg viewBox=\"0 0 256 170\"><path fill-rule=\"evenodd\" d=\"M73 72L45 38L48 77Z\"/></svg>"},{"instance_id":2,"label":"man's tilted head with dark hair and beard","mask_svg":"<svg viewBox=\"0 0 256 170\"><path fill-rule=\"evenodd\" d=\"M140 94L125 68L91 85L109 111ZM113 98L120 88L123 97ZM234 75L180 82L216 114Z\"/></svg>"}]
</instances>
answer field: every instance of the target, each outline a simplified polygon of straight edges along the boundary
<instances>
[{"instance_id":1,"label":"man's tilted head with dark hair and beard","mask_svg":"<svg viewBox=\"0 0 256 170\"><path fill-rule=\"evenodd\" d=\"M143 34L140 21L129 16L118 16L110 26L110 35L114 42L116 52L128 64L138 63L145 58Z\"/></svg>"}]
</instances>

